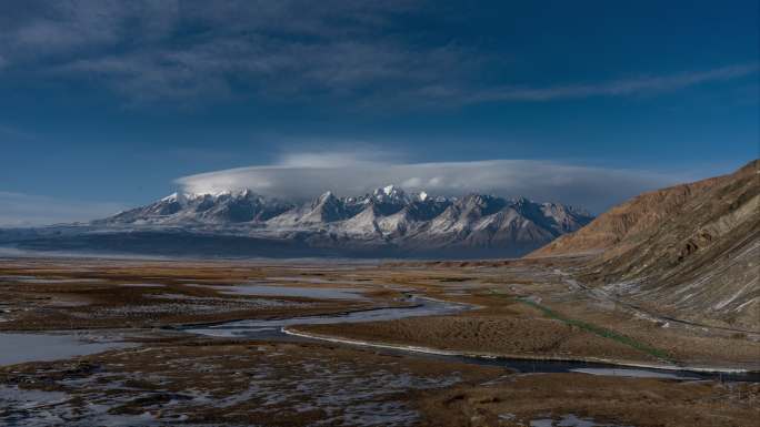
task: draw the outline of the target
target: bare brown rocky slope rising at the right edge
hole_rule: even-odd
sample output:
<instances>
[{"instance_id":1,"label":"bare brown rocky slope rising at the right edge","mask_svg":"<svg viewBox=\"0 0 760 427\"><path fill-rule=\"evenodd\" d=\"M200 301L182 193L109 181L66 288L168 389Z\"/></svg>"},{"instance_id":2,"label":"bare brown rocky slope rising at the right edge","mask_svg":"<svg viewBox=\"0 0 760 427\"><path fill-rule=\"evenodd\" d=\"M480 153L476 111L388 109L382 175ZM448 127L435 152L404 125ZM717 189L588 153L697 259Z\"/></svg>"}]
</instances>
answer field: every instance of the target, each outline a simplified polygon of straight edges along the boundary
<instances>
[{"instance_id":1,"label":"bare brown rocky slope rising at the right edge","mask_svg":"<svg viewBox=\"0 0 760 427\"><path fill-rule=\"evenodd\" d=\"M760 162L646 193L531 257L594 254L581 278L667 313L760 331Z\"/></svg>"}]
</instances>

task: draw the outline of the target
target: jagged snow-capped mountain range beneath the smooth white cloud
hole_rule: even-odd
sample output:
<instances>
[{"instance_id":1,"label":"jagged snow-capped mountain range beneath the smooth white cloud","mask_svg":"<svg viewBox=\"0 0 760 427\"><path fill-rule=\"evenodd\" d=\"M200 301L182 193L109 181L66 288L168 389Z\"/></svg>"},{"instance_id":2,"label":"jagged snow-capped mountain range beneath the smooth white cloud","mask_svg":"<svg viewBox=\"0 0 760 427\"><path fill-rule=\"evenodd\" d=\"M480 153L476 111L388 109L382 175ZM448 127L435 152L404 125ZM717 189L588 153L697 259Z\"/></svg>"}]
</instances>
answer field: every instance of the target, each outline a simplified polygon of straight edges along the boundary
<instances>
[{"instance_id":1,"label":"jagged snow-capped mountain range beneath the smooth white cloud","mask_svg":"<svg viewBox=\"0 0 760 427\"><path fill-rule=\"evenodd\" d=\"M591 220L582 210L557 203L484 194L432 196L407 193L394 185L360 196L338 197L326 192L310 202L239 190L174 193L93 221L84 233L73 235L77 247L97 243L99 248L116 245L129 252L133 252L132 244L140 247L138 252L162 252L171 242L171 253L202 246L204 253L220 251L224 255L240 251L256 256L467 258L522 255ZM178 236L183 243L174 242ZM203 245L193 247L193 236ZM141 237L150 237L153 244L137 244ZM50 241L50 233L46 238ZM104 245L103 240L110 243Z\"/></svg>"}]
</instances>

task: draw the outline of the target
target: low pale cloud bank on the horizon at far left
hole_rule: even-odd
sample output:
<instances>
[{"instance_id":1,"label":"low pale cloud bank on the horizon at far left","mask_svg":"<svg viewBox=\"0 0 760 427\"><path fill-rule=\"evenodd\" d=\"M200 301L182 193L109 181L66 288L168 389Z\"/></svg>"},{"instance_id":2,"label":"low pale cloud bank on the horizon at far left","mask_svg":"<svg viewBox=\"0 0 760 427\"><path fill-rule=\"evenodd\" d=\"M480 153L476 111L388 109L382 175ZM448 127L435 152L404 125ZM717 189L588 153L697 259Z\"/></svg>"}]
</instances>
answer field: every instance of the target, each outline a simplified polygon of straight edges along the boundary
<instances>
[{"instance_id":1,"label":"low pale cloud bank on the horizon at far left","mask_svg":"<svg viewBox=\"0 0 760 427\"><path fill-rule=\"evenodd\" d=\"M0 191L0 226L20 227L89 221L112 215L126 205Z\"/></svg>"}]
</instances>

